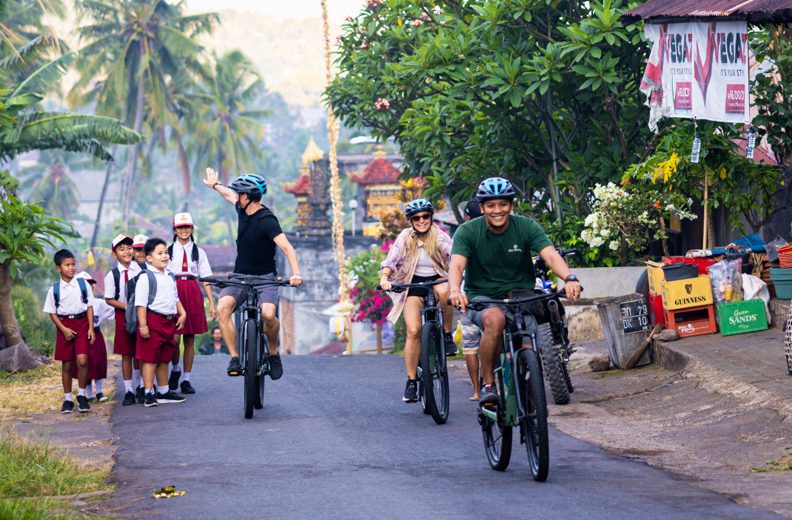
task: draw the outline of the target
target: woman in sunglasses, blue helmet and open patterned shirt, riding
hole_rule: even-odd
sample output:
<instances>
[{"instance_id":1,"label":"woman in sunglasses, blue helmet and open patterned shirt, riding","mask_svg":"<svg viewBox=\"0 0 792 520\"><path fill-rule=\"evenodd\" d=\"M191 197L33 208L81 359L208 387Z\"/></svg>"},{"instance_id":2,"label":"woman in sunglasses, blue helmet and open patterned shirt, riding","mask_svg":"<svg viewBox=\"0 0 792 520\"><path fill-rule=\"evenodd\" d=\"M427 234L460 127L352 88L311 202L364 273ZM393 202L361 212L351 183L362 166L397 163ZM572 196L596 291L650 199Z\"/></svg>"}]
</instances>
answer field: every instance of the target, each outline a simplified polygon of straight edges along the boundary
<instances>
[{"instance_id":1,"label":"woman in sunglasses, blue helmet and open patterned shirt, riding","mask_svg":"<svg viewBox=\"0 0 792 520\"><path fill-rule=\"evenodd\" d=\"M405 217L411 223L396 238L381 264L380 286L390 290L393 283L420 283L448 279L448 263L451 257L451 237L432 223L434 206L426 199L416 199L405 207ZM393 280L391 281L391 276ZM438 301L443 307L446 356L457 353L454 338L451 336L451 321L454 309L446 305L448 284L434 287ZM407 366L407 388L404 402L418 402L418 360L421 357L421 309L429 288L410 288L407 293L389 293L393 300L393 310L388 315L391 323L396 323L404 312L407 325L407 341L404 345L404 362Z\"/></svg>"}]
</instances>

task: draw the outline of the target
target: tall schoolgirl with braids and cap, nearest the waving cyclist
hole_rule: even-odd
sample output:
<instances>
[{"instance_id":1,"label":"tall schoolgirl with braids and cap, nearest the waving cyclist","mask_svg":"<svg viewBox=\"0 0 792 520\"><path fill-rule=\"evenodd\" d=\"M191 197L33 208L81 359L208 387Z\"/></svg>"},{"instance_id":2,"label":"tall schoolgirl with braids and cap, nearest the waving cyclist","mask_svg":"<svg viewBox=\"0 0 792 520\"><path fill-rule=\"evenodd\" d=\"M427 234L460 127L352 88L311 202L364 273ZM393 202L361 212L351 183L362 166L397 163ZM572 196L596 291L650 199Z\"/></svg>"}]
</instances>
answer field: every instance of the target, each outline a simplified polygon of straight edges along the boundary
<instances>
[{"instance_id":1,"label":"tall schoolgirl with braids and cap, nearest the waving cyclist","mask_svg":"<svg viewBox=\"0 0 792 520\"><path fill-rule=\"evenodd\" d=\"M168 246L170 262L168 270L176 276L176 288L179 291L179 301L187 312L187 322L181 331L181 336L176 335L176 348L173 351L173 369L168 377L168 387L172 391L179 389L179 341L184 338L184 379L181 383L181 393L194 394L195 389L190 384L193 359L195 357L195 335L206 334L209 327L206 323L206 311L203 305L203 293L198 285L197 278L212 276L212 268L206 257L206 251L195 244L193 219L189 213L177 213L173 217L173 243ZM209 315L217 319L217 309L212 298L212 287L204 283L206 297L209 299Z\"/></svg>"}]
</instances>

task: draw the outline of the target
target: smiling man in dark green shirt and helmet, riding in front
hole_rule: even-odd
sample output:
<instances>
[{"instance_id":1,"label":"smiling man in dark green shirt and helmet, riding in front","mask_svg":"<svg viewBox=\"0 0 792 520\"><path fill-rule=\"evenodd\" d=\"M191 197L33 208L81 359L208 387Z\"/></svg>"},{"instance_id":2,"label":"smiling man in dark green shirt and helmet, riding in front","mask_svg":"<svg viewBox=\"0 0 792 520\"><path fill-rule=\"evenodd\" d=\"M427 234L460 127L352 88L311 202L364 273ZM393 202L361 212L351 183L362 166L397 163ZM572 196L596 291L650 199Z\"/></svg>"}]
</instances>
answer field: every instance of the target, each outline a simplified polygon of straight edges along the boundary
<instances>
[{"instance_id":1,"label":"smiling man in dark green shirt and helmet, riding in front","mask_svg":"<svg viewBox=\"0 0 792 520\"><path fill-rule=\"evenodd\" d=\"M580 298L580 283L541 226L533 219L511 214L515 192L509 181L486 179L479 184L476 196L484 218L465 222L454 234L448 281L451 302L483 332L479 345L483 380L480 403L494 404L498 401L494 369L507 316L498 306L467 310L468 297L506 299L511 291L533 289L536 273L531 251L538 252L566 282L564 289L570 301ZM463 272L467 294L460 290Z\"/></svg>"}]
</instances>

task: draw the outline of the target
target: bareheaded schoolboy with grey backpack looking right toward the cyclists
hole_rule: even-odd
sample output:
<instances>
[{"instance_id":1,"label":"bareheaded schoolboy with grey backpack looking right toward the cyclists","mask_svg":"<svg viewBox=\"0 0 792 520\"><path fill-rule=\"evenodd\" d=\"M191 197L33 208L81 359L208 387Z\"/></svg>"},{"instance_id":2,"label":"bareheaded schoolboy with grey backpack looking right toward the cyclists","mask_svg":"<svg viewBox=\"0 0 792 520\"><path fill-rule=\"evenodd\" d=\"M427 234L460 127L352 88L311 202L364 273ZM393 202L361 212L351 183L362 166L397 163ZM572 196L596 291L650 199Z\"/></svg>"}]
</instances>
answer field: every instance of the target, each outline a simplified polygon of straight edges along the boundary
<instances>
[{"instance_id":1,"label":"bareheaded schoolboy with grey backpack looking right toward the cyclists","mask_svg":"<svg viewBox=\"0 0 792 520\"><path fill-rule=\"evenodd\" d=\"M176 348L176 331L184 328L187 313L179 301L173 273L165 269L169 259L167 244L161 238L151 238L146 242L145 249L147 269L138 277L135 288L138 316L135 357L143 363L141 371L145 387L144 405L148 407L160 403L181 403L184 402L184 397L168 388L168 364L173 359L173 350ZM155 291L151 298L149 291Z\"/></svg>"}]
</instances>

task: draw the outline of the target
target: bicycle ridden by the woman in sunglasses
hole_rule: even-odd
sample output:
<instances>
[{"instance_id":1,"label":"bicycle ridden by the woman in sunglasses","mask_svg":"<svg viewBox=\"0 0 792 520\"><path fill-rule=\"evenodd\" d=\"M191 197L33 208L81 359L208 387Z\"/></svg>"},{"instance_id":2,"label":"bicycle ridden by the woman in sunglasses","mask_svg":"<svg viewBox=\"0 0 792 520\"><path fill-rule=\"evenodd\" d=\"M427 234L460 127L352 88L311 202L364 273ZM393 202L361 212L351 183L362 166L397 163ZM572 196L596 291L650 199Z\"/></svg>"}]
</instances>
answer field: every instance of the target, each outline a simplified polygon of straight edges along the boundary
<instances>
[{"instance_id":1,"label":"bicycle ridden by the woman in sunglasses","mask_svg":"<svg viewBox=\"0 0 792 520\"><path fill-rule=\"evenodd\" d=\"M440 308L434 285L448 283L434 280L421 283L393 284L390 291L401 293L411 287L430 288L426 305L421 309L421 358L418 363L418 395L425 414L437 424L445 424L449 413L448 366L443 344L443 309ZM377 290L383 290L379 285Z\"/></svg>"}]
</instances>

